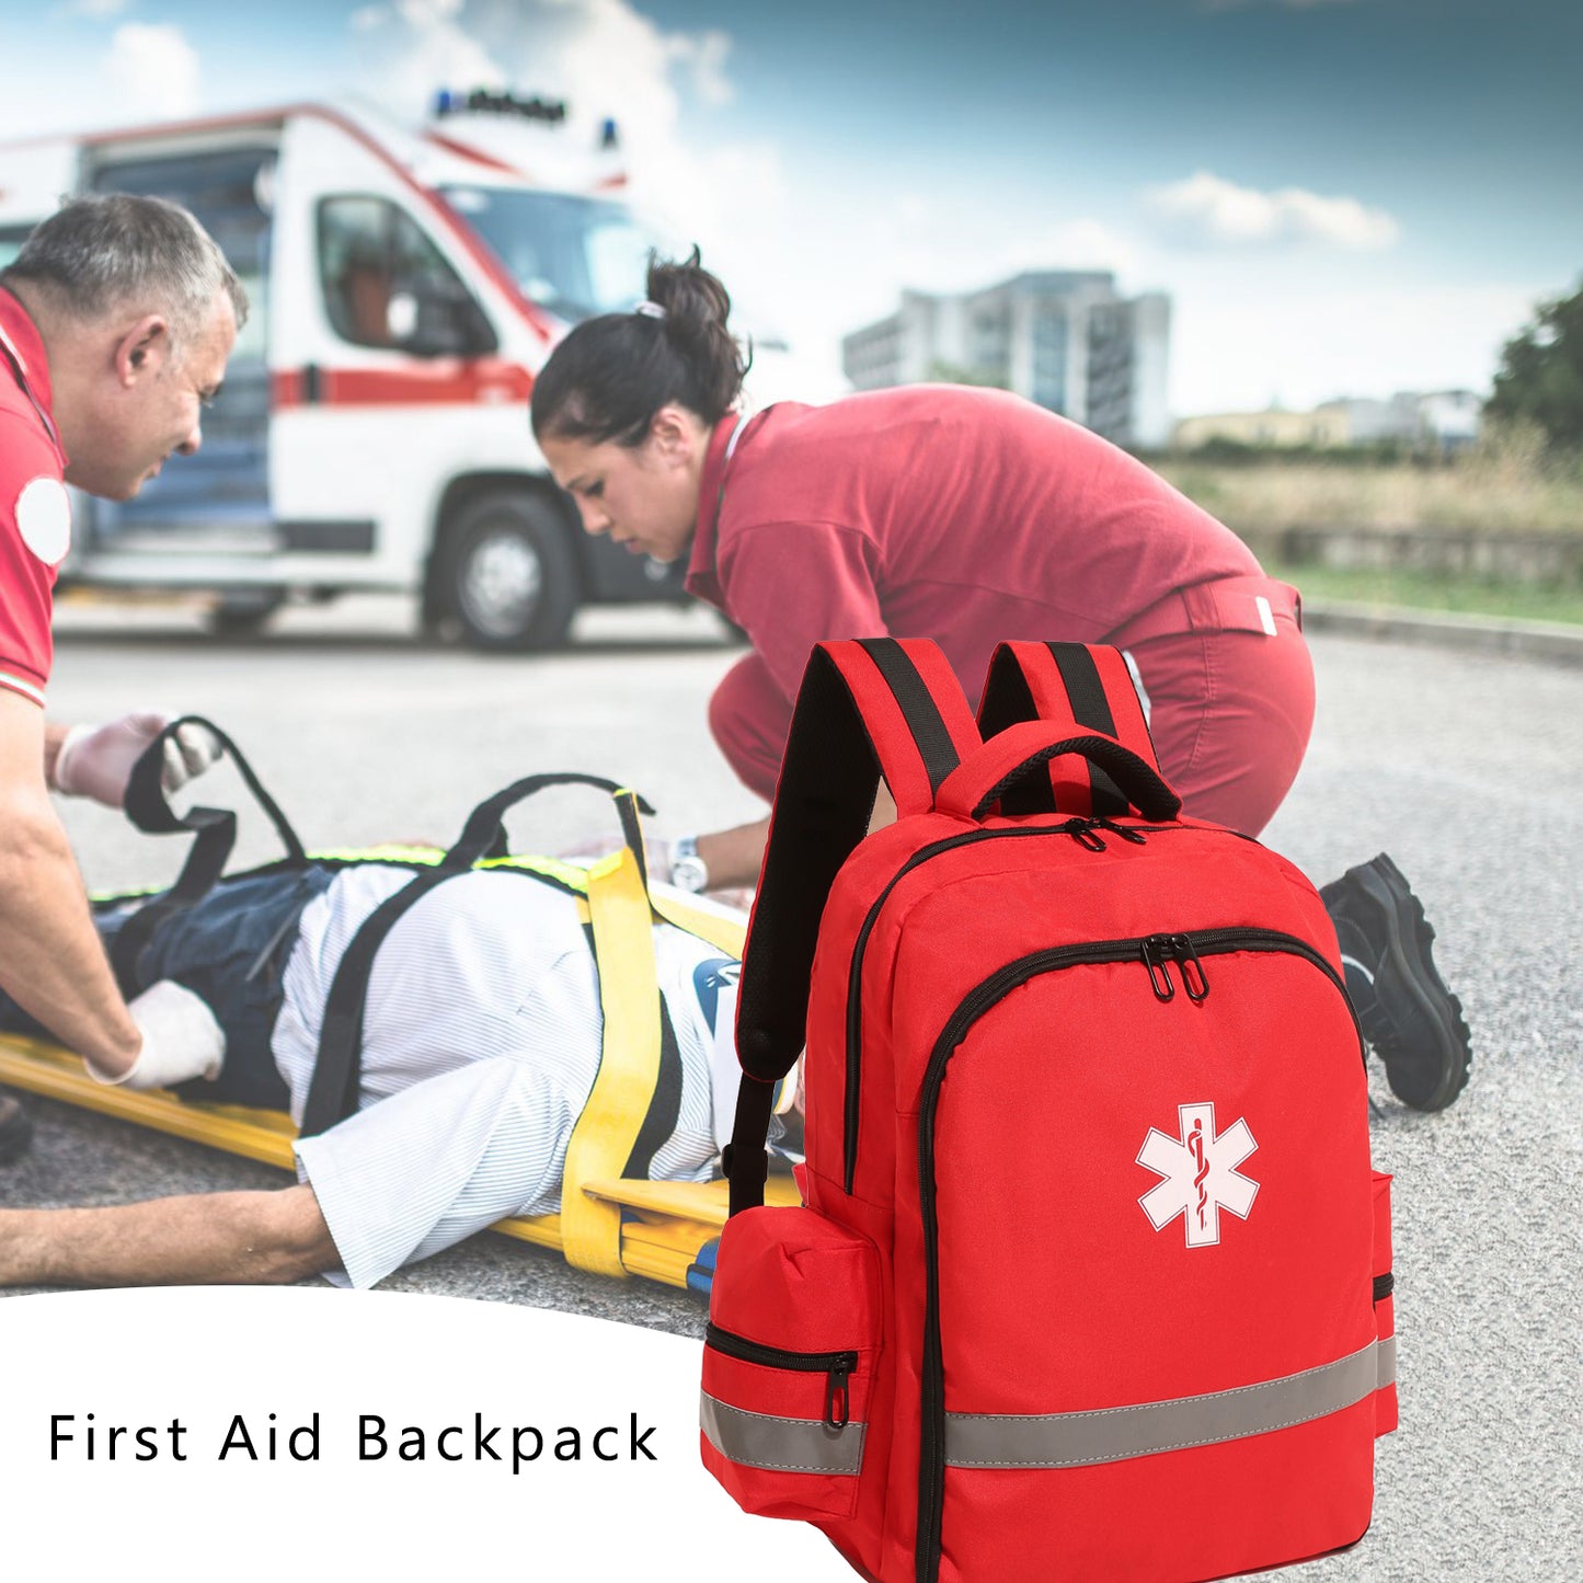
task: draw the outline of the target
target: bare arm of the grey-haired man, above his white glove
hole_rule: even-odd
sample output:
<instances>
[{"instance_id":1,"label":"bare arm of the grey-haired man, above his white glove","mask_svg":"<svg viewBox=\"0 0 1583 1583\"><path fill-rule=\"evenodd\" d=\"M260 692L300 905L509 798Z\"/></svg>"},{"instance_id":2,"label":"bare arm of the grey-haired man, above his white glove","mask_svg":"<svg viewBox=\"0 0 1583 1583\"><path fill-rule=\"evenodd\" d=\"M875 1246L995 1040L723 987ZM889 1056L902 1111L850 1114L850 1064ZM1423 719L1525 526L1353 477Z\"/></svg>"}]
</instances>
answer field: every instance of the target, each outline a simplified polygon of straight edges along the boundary
<instances>
[{"instance_id":1,"label":"bare arm of the grey-haired man, above his white glove","mask_svg":"<svg viewBox=\"0 0 1583 1583\"><path fill-rule=\"evenodd\" d=\"M0 988L106 1076L120 1076L142 1035L44 790L46 744L38 704L0 689Z\"/></svg>"}]
</instances>

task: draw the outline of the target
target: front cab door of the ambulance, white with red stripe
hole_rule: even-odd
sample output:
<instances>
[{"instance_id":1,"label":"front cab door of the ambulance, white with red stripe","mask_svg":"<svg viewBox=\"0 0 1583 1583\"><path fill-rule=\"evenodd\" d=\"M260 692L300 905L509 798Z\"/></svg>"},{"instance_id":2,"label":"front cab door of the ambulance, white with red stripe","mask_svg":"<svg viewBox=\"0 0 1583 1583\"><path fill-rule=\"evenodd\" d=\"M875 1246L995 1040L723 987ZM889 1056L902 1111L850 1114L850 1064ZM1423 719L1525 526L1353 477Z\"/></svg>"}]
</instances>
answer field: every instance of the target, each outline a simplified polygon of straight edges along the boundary
<instances>
[{"instance_id":1,"label":"front cab door of the ambulance, white with red stripe","mask_svg":"<svg viewBox=\"0 0 1583 1583\"><path fill-rule=\"evenodd\" d=\"M377 147L302 117L280 193L271 483L294 576L418 589L448 481L526 465L530 382L465 249Z\"/></svg>"}]
</instances>

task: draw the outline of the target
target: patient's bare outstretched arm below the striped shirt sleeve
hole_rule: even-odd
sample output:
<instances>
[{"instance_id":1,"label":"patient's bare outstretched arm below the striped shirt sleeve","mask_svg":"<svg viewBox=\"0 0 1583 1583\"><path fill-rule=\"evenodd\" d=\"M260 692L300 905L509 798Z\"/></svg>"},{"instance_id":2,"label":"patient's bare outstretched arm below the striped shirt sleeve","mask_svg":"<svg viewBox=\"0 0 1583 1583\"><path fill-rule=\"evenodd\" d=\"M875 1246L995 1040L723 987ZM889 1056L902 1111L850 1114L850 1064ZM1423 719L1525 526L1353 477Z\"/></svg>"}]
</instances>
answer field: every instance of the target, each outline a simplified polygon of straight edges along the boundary
<instances>
[{"instance_id":1,"label":"patient's bare outstretched arm below the striped shirt sleeve","mask_svg":"<svg viewBox=\"0 0 1583 1583\"><path fill-rule=\"evenodd\" d=\"M0 1285L283 1285L339 1265L309 1186L0 1209Z\"/></svg>"}]
</instances>

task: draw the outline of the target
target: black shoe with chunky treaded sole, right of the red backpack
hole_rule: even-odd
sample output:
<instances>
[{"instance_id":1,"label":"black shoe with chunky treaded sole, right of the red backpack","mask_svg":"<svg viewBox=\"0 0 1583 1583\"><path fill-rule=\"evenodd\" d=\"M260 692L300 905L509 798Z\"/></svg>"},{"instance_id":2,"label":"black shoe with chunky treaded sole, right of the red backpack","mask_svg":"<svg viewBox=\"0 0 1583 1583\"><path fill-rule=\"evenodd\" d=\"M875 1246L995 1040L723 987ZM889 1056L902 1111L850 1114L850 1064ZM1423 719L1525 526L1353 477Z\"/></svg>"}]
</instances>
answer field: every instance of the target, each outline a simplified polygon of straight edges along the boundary
<instances>
[{"instance_id":1,"label":"black shoe with chunky treaded sole, right of the red backpack","mask_svg":"<svg viewBox=\"0 0 1583 1583\"><path fill-rule=\"evenodd\" d=\"M1467 1086L1472 1051L1461 1002L1434 970L1434 929L1418 898L1384 852L1319 894L1391 1092L1414 1110L1445 1110Z\"/></svg>"}]
</instances>

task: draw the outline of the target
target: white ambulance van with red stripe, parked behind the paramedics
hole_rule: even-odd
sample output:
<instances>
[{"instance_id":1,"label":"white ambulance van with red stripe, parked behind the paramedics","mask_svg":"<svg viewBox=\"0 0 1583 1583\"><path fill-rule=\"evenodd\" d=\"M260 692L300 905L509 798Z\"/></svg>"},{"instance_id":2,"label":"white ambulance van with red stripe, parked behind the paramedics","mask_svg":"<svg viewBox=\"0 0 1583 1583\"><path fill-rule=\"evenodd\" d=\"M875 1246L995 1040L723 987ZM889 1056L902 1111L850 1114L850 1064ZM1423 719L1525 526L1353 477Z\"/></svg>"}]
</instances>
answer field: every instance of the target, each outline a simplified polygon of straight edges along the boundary
<instances>
[{"instance_id":1,"label":"white ambulance van with red stripe, parked behind the paramedics","mask_svg":"<svg viewBox=\"0 0 1583 1583\"><path fill-rule=\"evenodd\" d=\"M0 266L62 193L152 193L218 241L252 315L203 448L130 502L76 495L63 586L206 590L218 630L399 590L421 628L560 643L579 606L684 600L682 568L589 538L533 445L556 340L643 298L654 233L614 123L440 93L0 147ZM660 244L663 247L663 242Z\"/></svg>"}]
</instances>

